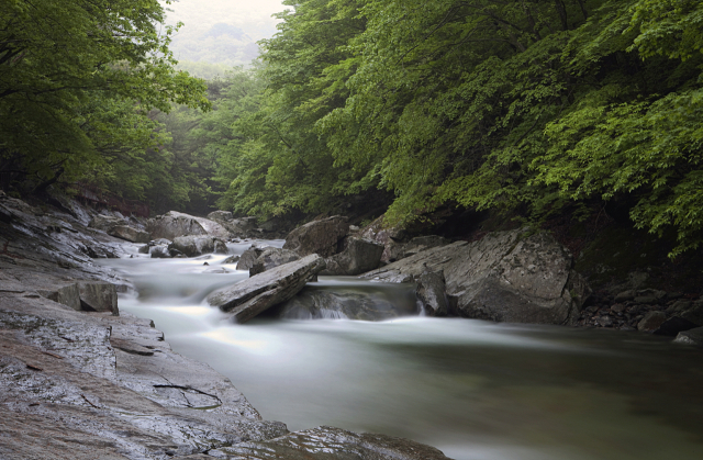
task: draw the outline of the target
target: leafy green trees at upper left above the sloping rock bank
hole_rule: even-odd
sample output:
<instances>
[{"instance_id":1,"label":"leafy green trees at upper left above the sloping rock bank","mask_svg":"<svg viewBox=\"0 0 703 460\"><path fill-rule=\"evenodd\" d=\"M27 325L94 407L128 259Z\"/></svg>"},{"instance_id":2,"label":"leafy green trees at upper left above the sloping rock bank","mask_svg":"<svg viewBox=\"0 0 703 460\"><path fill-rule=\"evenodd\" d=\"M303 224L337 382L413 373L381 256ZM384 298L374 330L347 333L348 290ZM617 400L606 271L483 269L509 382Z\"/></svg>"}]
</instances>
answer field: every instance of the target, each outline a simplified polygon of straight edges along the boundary
<instances>
[{"instance_id":1,"label":"leafy green trees at upper left above the sloping rock bank","mask_svg":"<svg viewBox=\"0 0 703 460\"><path fill-rule=\"evenodd\" d=\"M149 111L209 108L204 82L174 69L163 21L157 0L0 3L0 169L144 198L165 138Z\"/></svg>"}]
</instances>

